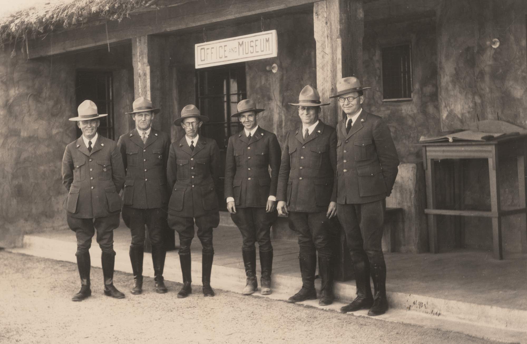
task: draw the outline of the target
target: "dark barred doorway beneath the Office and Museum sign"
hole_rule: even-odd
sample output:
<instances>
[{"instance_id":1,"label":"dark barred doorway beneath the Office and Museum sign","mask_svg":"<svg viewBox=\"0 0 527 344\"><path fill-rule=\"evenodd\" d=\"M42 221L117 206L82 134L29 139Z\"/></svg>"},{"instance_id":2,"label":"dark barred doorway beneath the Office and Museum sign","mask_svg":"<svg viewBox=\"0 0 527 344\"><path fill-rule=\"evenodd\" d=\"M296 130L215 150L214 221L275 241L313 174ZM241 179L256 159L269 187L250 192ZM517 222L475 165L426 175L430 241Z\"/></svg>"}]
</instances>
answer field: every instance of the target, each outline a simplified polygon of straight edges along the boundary
<instances>
[{"instance_id":1,"label":"dark barred doorway beneath the Office and Museum sign","mask_svg":"<svg viewBox=\"0 0 527 344\"><path fill-rule=\"evenodd\" d=\"M223 198L227 143L243 127L237 118L230 116L237 112L240 100L247 98L245 63L198 69L196 74L196 103L201 114L209 117L209 122L201 126L200 134L215 139L220 148L217 190L220 209L227 210Z\"/></svg>"}]
</instances>

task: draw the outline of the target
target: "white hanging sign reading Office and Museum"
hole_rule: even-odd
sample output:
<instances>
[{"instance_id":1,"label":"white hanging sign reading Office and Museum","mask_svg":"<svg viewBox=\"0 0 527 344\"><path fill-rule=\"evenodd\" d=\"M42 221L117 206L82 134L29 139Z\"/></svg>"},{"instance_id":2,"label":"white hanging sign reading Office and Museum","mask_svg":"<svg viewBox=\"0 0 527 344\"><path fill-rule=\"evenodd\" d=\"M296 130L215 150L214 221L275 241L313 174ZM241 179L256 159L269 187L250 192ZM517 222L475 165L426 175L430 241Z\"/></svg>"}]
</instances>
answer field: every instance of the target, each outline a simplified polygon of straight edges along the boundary
<instances>
[{"instance_id":1,"label":"white hanging sign reading Office and Museum","mask_svg":"<svg viewBox=\"0 0 527 344\"><path fill-rule=\"evenodd\" d=\"M199 43L194 46L194 54L196 68L276 57L276 30Z\"/></svg>"}]
</instances>

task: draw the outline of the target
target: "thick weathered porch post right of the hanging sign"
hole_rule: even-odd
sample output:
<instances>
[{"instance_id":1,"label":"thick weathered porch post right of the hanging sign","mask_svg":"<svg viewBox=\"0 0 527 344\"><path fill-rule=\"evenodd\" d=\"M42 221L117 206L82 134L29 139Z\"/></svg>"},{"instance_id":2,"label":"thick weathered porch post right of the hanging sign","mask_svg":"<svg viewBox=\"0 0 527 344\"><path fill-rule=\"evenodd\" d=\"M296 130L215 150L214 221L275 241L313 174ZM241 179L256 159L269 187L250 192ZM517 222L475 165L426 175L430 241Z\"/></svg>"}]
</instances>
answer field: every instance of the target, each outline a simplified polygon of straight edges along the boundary
<instances>
[{"instance_id":1,"label":"thick weathered porch post right of the hanging sign","mask_svg":"<svg viewBox=\"0 0 527 344\"><path fill-rule=\"evenodd\" d=\"M335 94L339 78L362 77L362 0L316 2L313 4L313 21L317 44L317 89L325 101ZM321 118L326 124L337 125L342 117L336 100L324 107Z\"/></svg>"}]
</instances>

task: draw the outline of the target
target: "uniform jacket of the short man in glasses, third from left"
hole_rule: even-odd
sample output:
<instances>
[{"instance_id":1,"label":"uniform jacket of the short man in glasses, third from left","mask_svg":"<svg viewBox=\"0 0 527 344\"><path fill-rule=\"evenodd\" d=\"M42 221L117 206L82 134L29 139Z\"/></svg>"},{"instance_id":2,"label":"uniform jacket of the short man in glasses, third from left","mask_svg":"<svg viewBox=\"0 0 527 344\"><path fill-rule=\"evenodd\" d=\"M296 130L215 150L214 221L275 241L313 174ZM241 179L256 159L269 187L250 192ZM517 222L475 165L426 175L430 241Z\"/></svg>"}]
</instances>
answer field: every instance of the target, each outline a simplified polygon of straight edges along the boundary
<instances>
[{"instance_id":1,"label":"uniform jacket of the short man in glasses, third from left","mask_svg":"<svg viewBox=\"0 0 527 344\"><path fill-rule=\"evenodd\" d=\"M169 214L182 217L217 214L215 183L219 166L220 149L211 138L200 135L194 150L184 136L172 143L167 165L167 180L172 190Z\"/></svg>"}]
</instances>

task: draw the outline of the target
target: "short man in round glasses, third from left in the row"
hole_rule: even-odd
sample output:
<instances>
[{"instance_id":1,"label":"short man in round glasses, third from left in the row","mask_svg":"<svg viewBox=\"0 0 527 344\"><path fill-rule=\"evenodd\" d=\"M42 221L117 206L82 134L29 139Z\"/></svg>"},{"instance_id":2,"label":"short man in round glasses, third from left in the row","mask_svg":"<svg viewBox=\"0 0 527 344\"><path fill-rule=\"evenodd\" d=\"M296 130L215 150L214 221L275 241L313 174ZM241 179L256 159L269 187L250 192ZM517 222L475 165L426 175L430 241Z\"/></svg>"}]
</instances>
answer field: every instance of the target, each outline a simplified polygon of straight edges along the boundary
<instances>
[{"instance_id":1,"label":"short man in round glasses, third from left in the row","mask_svg":"<svg viewBox=\"0 0 527 344\"><path fill-rule=\"evenodd\" d=\"M210 287L214 257L212 228L218 227L220 222L215 186L218 173L214 169L220 166L220 149L216 141L198 134L199 128L207 120L209 118L201 116L194 105L185 106L181 110L181 117L174 120L174 125L181 125L186 134L170 145L167 166L167 180L172 190L168 204L168 223L179 234L179 260L183 275L183 287L178 298L187 297L192 292L190 244L194 237L194 221L203 247L203 296L214 296Z\"/></svg>"}]
</instances>

